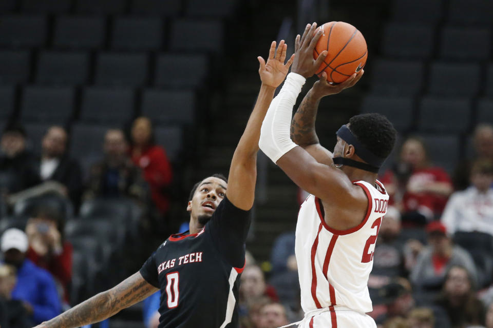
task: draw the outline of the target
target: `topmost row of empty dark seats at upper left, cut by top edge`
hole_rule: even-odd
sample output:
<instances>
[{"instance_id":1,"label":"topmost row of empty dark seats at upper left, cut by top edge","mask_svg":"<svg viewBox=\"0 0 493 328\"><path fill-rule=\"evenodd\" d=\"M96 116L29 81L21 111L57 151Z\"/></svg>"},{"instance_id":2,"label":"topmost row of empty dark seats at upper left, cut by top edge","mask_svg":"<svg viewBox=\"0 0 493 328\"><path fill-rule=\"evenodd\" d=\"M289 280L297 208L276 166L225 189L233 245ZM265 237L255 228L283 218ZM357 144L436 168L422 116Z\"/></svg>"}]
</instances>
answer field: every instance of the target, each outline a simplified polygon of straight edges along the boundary
<instances>
[{"instance_id":1,"label":"topmost row of empty dark seats at upper left, cut by top edge","mask_svg":"<svg viewBox=\"0 0 493 328\"><path fill-rule=\"evenodd\" d=\"M124 14L129 11L137 15L177 16L184 10L187 16L224 17L233 13L236 4L232 0L131 0L130 4L127 0L2 0L0 12L12 12L20 7L27 13Z\"/></svg>"}]
</instances>

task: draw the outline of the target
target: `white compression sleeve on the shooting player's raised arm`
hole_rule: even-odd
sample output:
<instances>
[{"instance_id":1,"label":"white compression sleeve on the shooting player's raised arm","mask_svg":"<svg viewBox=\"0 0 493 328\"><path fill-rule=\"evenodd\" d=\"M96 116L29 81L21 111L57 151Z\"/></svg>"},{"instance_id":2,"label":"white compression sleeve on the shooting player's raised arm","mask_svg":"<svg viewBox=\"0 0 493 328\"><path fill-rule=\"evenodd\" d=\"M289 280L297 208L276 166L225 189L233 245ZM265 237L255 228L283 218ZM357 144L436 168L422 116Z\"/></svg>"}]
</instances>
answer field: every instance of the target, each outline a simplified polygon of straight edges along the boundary
<instances>
[{"instance_id":1,"label":"white compression sleeve on the shooting player's raised arm","mask_svg":"<svg viewBox=\"0 0 493 328\"><path fill-rule=\"evenodd\" d=\"M263 119L258 147L274 163L297 145L291 140L290 126L293 106L306 78L289 73L279 94L272 100Z\"/></svg>"}]
</instances>

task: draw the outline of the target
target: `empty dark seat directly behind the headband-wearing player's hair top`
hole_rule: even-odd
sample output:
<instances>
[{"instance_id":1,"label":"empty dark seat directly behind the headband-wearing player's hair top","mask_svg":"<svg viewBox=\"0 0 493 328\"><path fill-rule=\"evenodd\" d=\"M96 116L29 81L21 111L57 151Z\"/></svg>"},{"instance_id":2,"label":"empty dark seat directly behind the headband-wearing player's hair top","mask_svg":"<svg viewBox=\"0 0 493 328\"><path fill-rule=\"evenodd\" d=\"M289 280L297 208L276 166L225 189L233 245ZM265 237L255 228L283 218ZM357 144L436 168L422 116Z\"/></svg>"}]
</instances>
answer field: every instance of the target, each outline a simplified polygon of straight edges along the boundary
<instances>
[{"instance_id":1,"label":"empty dark seat directly behind the headband-wearing player's hair top","mask_svg":"<svg viewBox=\"0 0 493 328\"><path fill-rule=\"evenodd\" d=\"M397 131L407 131L414 121L412 97L369 95L363 99L361 111L387 116Z\"/></svg>"}]
</instances>

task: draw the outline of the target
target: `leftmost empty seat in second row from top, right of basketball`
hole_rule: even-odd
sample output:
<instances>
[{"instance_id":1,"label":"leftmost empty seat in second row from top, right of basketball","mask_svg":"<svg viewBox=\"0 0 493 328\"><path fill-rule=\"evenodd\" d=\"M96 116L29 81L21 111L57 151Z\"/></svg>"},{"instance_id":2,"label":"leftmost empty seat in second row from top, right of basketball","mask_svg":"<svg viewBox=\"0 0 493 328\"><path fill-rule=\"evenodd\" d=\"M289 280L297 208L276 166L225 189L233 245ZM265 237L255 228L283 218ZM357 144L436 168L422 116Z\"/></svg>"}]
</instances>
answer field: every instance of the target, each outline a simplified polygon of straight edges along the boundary
<instances>
[{"instance_id":1,"label":"leftmost empty seat in second row from top, right of basketball","mask_svg":"<svg viewBox=\"0 0 493 328\"><path fill-rule=\"evenodd\" d=\"M384 28L382 52L389 57L428 58L433 50L433 26L388 23Z\"/></svg>"}]
</instances>

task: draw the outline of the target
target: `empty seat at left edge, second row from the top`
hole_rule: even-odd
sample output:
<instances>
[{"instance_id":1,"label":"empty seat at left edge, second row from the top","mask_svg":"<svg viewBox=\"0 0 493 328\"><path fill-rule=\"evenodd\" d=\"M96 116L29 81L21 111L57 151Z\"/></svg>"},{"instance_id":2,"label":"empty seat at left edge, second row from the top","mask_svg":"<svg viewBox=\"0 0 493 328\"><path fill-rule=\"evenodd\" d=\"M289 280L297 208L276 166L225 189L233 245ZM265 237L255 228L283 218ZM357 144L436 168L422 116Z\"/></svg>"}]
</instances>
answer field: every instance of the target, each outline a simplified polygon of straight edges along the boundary
<instances>
[{"instance_id":1,"label":"empty seat at left edge, second row from the top","mask_svg":"<svg viewBox=\"0 0 493 328\"><path fill-rule=\"evenodd\" d=\"M39 47L46 42L46 17L38 15L3 15L0 45Z\"/></svg>"}]
</instances>

